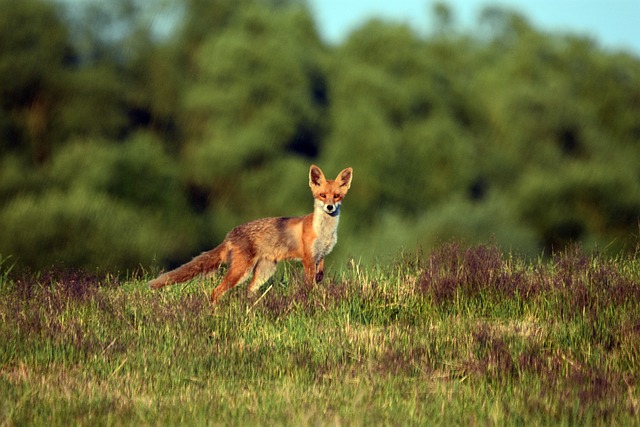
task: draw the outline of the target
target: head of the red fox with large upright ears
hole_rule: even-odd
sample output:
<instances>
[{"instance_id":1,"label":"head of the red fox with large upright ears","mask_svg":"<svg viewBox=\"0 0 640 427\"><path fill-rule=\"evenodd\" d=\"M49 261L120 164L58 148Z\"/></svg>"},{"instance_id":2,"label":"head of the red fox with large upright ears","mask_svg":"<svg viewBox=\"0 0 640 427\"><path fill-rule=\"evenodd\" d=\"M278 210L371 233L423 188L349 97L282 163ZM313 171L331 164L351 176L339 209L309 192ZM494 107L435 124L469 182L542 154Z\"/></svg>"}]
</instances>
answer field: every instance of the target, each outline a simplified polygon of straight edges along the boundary
<instances>
[{"instance_id":1,"label":"head of the red fox with large upright ears","mask_svg":"<svg viewBox=\"0 0 640 427\"><path fill-rule=\"evenodd\" d=\"M309 169L309 186L315 198L315 205L331 216L340 213L340 204L351 187L353 169L346 168L336 179L327 180L316 165Z\"/></svg>"}]
</instances>

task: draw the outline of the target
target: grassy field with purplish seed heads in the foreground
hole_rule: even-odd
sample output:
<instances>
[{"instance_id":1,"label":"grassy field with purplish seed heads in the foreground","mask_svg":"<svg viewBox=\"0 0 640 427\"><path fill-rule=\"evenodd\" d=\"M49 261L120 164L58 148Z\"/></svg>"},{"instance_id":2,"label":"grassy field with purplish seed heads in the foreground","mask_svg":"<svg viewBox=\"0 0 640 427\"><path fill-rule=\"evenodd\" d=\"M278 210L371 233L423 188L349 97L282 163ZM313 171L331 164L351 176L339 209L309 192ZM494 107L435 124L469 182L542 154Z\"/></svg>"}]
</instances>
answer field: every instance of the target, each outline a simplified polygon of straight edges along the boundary
<instances>
[{"instance_id":1,"label":"grassy field with purplish seed heads in the foreground","mask_svg":"<svg viewBox=\"0 0 640 427\"><path fill-rule=\"evenodd\" d=\"M215 308L0 268L1 425L640 425L633 254L447 244L313 289L292 264Z\"/></svg>"}]
</instances>

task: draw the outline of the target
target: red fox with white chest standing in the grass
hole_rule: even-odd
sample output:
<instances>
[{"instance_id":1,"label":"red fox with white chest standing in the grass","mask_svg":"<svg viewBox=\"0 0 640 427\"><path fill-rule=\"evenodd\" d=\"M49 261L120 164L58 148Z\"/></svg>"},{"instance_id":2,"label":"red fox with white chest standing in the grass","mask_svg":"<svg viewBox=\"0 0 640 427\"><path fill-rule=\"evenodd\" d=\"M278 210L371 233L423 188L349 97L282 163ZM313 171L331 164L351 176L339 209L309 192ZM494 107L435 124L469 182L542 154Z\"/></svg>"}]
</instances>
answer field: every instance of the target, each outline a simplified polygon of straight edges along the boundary
<instances>
[{"instance_id":1,"label":"red fox with white chest standing in the grass","mask_svg":"<svg viewBox=\"0 0 640 427\"><path fill-rule=\"evenodd\" d=\"M222 283L211 293L211 302L251 275L249 292L256 293L285 259L301 260L306 284L324 278L324 257L338 240L342 199L351 187L353 169L346 168L336 179L325 179L316 165L309 169L309 186L314 197L313 212L294 218L263 218L231 230L216 248L149 282L152 289L180 283L200 274L212 275L227 265Z\"/></svg>"}]
</instances>

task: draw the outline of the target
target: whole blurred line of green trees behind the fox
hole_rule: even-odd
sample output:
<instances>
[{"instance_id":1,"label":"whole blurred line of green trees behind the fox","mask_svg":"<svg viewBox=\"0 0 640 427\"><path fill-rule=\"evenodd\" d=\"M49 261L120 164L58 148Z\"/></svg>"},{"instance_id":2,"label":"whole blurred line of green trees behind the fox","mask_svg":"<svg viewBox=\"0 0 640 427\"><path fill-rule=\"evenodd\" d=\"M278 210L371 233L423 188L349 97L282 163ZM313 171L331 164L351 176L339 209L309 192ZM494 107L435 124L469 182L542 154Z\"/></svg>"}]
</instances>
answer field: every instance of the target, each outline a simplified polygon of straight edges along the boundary
<instances>
[{"instance_id":1,"label":"whole blurred line of green trees behind the fox","mask_svg":"<svg viewBox=\"0 0 640 427\"><path fill-rule=\"evenodd\" d=\"M353 166L333 258L457 238L634 250L640 59L486 8L337 46L293 0L0 0L0 254L170 265L311 209ZM338 261L342 262L342 261Z\"/></svg>"}]
</instances>

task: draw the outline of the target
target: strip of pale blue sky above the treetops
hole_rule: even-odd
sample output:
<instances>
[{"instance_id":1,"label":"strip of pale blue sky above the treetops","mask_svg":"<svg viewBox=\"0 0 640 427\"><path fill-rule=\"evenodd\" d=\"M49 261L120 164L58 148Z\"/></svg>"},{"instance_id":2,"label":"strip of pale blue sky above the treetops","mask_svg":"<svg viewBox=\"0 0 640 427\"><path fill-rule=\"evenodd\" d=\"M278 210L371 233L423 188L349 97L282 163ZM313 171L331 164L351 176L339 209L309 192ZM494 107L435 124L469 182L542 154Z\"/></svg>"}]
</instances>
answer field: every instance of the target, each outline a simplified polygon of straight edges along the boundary
<instances>
[{"instance_id":1,"label":"strip of pale blue sky above the treetops","mask_svg":"<svg viewBox=\"0 0 640 427\"><path fill-rule=\"evenodd\" d=\"M339 43L373 17L407 23L427 32L434 0L307 0L318 31ZM534 28L587 36L599 46L640 56L640 0L445 0L456 22L471 27L487 5L523 14Z\"/></svg>"}]
</instances>

